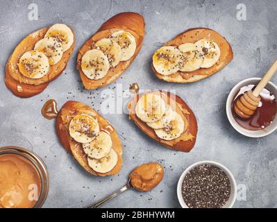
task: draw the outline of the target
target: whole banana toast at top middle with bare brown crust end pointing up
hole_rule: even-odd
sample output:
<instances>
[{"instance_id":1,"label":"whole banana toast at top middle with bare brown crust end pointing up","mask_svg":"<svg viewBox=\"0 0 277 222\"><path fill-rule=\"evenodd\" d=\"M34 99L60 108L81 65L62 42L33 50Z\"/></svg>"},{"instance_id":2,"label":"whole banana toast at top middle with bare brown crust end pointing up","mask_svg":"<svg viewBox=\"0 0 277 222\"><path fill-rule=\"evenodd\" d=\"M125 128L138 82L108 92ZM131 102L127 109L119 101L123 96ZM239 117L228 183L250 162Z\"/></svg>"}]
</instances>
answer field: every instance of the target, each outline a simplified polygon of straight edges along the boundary
<instances>
[{"instance_id":1,"label":"whole banana toast at top middle with bare brown crust end pointing up","mask_svg":"<svg viewBox=\"0 0 277 222\"><path fill-rule=\"evenodd\" d=\"M86 89L113 83L142 48L144 18L123 12L108 19L78 53L77 69Z\"/></svg>"}]
</instances>

